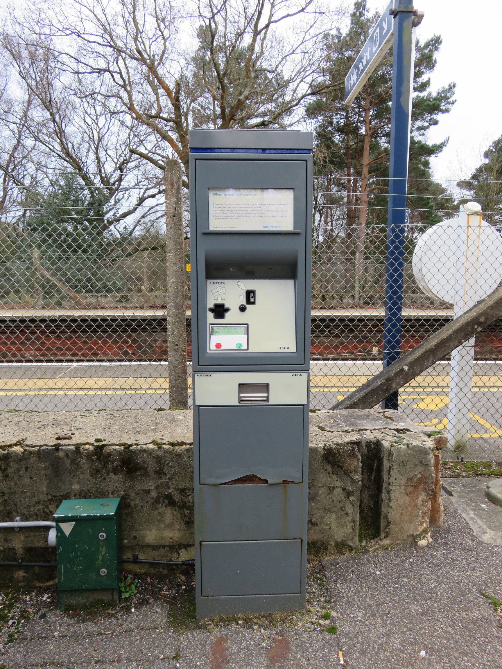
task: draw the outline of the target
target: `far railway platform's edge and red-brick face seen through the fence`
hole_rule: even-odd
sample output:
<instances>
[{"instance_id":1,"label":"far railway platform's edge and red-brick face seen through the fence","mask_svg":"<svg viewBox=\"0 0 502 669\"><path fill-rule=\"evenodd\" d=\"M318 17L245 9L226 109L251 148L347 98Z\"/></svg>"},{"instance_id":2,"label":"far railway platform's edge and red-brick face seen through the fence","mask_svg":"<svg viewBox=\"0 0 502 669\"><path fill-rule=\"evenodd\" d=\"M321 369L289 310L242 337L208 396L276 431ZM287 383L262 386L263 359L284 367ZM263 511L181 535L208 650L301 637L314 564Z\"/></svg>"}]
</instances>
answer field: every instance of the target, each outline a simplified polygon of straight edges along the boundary
<instances>
[{"instance_id":1,"label":"far railway platform's edge and red-brick face seen through the fence","mask_svg":"<svg viewBox=\"0 0 502 669\"><path fill-rule=\"evenodd\" d=\"M447 310L403 312L407 351L452 318ZM188 353L191 312L187 311ZM311 355L315 360L379 360L383 309L313 309ZM481 332L477 360L502 360L502 322ZM0 310L0 360L5 362L162 361L167 359L166 314L149 310Z\"/></svg>"}]
</instances>

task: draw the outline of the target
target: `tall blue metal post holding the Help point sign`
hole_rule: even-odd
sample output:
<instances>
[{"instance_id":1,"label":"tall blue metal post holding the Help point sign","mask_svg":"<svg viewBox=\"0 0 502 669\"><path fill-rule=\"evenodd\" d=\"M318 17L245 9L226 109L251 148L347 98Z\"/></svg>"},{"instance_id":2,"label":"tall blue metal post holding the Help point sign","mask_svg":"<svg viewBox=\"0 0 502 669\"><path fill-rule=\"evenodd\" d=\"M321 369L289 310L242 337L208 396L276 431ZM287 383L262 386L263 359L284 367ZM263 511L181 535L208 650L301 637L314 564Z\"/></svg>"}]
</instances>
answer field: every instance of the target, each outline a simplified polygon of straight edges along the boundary
<instances>
[{"instance_id":1,"label":"tall blue metal post holding the Help point sign","mask_svg":"<svg viewBox=\"0 0 502 669\"><path fill-rule=\"evenodd\" d=\"M394 60L390 129L389 213L387 227L384 369L400 357L403 304L406 186L410 153L413 54L413 5L400 0L394 9ZM384 409L398 408L396 391L384 399Z\"/></svg>"}]
</instances>

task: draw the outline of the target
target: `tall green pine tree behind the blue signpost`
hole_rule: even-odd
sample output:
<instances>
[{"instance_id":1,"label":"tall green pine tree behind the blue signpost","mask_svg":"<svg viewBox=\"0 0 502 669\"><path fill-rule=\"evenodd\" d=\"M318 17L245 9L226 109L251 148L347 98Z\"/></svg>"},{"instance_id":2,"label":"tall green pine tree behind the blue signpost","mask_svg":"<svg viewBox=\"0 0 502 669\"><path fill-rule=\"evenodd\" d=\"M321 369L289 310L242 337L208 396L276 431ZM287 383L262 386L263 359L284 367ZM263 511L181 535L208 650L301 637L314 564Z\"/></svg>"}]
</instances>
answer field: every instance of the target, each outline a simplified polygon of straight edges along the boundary
<instances>
[{"instance_id":1,"label":"tall green pine tree behind the blue signpost","mask_svg":"<svg viewBox=\"0 0 502 669\"><path fill-rule=\"evenodd\" d=\"M377 19L378 14L369 15L366 0L356 0L347 31L326 35L325 77L332 84L344 80ZM454 104L454 84L437 92L430 90L429 74L436 66L440 45L438 35L416 43L408 186L408 206L414 210L410 236L442 219L444 210L452 207L451 197L433 181L430 171L430 158L444 149L448 139L436 144L426 140L427 130ZM355 304L361 300L367 242L378 247L380 254L384 246L391 97L392 49L352 104L344 104L343 88L339 86L319 96L308 110L315 121L315 171L319 177L315 241L324 247L328 230L336 230L341 237L345 249L344 292L353 291ZM345 216L334 223L336 205L342 203ZM375 254L375 248L369 252Z\"/></svg>"}]
</instances>

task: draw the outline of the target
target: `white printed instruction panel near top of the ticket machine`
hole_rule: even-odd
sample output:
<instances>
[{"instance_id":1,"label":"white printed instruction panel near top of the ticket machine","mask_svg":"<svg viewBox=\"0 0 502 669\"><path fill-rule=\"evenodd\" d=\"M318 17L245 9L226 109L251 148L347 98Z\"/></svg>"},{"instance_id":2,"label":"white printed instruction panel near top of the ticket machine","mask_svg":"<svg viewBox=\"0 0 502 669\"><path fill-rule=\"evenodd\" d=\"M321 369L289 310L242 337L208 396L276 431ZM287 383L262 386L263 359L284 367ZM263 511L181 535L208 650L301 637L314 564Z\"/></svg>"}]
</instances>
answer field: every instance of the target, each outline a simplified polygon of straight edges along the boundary
<instances>
[{"instance_id":1,"label":"white printed instruction panel near top of the ticket machine","mask_svg":"<svg viewBox=\"0 0 502 669\"><path fill-rule=\"evenodd\" d=\"M292 230L295 189L210 188L210 230Z\"/></svg>"}]
</instances>

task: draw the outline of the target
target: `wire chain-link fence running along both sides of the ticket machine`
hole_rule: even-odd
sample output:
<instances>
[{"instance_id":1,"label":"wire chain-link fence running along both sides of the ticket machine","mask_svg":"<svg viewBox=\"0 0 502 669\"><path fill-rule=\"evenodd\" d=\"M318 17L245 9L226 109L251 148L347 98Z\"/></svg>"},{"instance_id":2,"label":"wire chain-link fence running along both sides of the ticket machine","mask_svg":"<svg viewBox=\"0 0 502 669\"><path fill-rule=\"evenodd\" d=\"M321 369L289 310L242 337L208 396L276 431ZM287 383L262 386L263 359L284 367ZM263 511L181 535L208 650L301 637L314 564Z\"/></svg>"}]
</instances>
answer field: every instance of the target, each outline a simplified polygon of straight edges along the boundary
<instances>
[{"instance_id":1,"label":"wire chain-link fence running along both sides of the ticket machine","mask_svg":"<svg viewBox=\"0 0 502 669\"><path fill-rule=\"evenodd\" d=\"M311 403L323 410L382 369L387 209L385 200L350 207L343 182L337 190L319 178L314 212ZM406 227L402 351L453 317L452 304L420 288L412 258L430 223L458 208L436 210L436 221L429 214L424 223L412 208ZM188 235L185 255L188 264ZM158 227L123 236L63 223L51 235L0 229L0 409L167 408L165 283ZM500 323L474 351L469 457L502 460ZM400 391L400 410L424 429L445 429L449 388L450 361L439 361Z\"/></svg>"}]
</instances>

